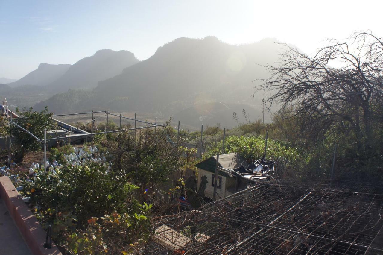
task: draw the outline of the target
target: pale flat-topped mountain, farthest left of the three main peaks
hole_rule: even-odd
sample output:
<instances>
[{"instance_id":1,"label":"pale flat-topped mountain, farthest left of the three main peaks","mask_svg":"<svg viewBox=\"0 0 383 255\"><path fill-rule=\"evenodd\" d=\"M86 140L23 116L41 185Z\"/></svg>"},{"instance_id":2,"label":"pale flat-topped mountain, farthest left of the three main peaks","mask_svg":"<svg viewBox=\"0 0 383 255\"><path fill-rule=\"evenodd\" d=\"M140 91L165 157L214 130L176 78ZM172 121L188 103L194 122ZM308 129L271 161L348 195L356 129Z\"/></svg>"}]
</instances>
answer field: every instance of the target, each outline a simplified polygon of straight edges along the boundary
<instances>
[{"instance_id":1,"label":"pale flat-topped mountain, farthest left of the three main peaks","mask_svg":"<svg viewBox=\"0 0 383 255\"><path fill-rule=\"evenodd\" d=\"M9 83L8 85L11 87L22 85L46 86L61 77L61 75L63 75L69 69L69 67L69 64L51 65L41 63L38 69L30 72L16 82Z\"/></svg>"}]
</instances>

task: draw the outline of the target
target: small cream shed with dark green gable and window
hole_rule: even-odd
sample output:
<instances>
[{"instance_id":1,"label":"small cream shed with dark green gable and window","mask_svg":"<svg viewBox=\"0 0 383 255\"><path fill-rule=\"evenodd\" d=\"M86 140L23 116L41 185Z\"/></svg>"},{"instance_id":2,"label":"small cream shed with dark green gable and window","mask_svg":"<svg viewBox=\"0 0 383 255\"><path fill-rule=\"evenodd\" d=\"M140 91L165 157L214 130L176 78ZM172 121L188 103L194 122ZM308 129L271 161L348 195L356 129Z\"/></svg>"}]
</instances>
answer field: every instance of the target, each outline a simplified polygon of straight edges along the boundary
<instances>
[{"instance_id":1,"label":"small cream shed with dark green gable and window","mask_svg":"<svg viewBox=\"0 0 383 255\"><path fill-rule=\"evenodd\" d=\"M215 177L215 166L217 162L217 156L210 157L197 163L195 167L198 168L198 188L200 188L201 177L206 176L208 183L206 184L205 196L213 199L214 193L214 177ZM238 153L229 153L219 155L218 166L222 168L238 168L241 166L249 165L244 158ZM218 170L218 183L217 183L217 194L218 198L224 198L226 196L234 194L236 186L236 177L228 172Z\"/></svg>"}]
</instances>

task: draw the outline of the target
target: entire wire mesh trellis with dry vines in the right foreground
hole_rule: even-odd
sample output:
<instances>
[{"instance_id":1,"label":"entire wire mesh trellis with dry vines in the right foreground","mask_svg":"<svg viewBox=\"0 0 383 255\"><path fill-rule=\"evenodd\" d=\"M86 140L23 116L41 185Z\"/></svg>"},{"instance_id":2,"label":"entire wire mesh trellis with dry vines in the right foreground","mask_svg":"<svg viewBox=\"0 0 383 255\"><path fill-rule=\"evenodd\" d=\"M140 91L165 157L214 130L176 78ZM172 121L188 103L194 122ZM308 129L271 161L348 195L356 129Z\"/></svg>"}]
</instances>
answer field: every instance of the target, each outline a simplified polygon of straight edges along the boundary
<instances>
[{"instance_id":1,"label":"entire wire mesh trellis with dry vines in the right foreground","mask_svg":"<svg viewBox=\"0 0 383 255\"><path fill-rule=\"evenodd\" d=\"M154 222L136 252L380 254L382 206L381 195L261 183Z\"/></svg>"}]
</instances>

